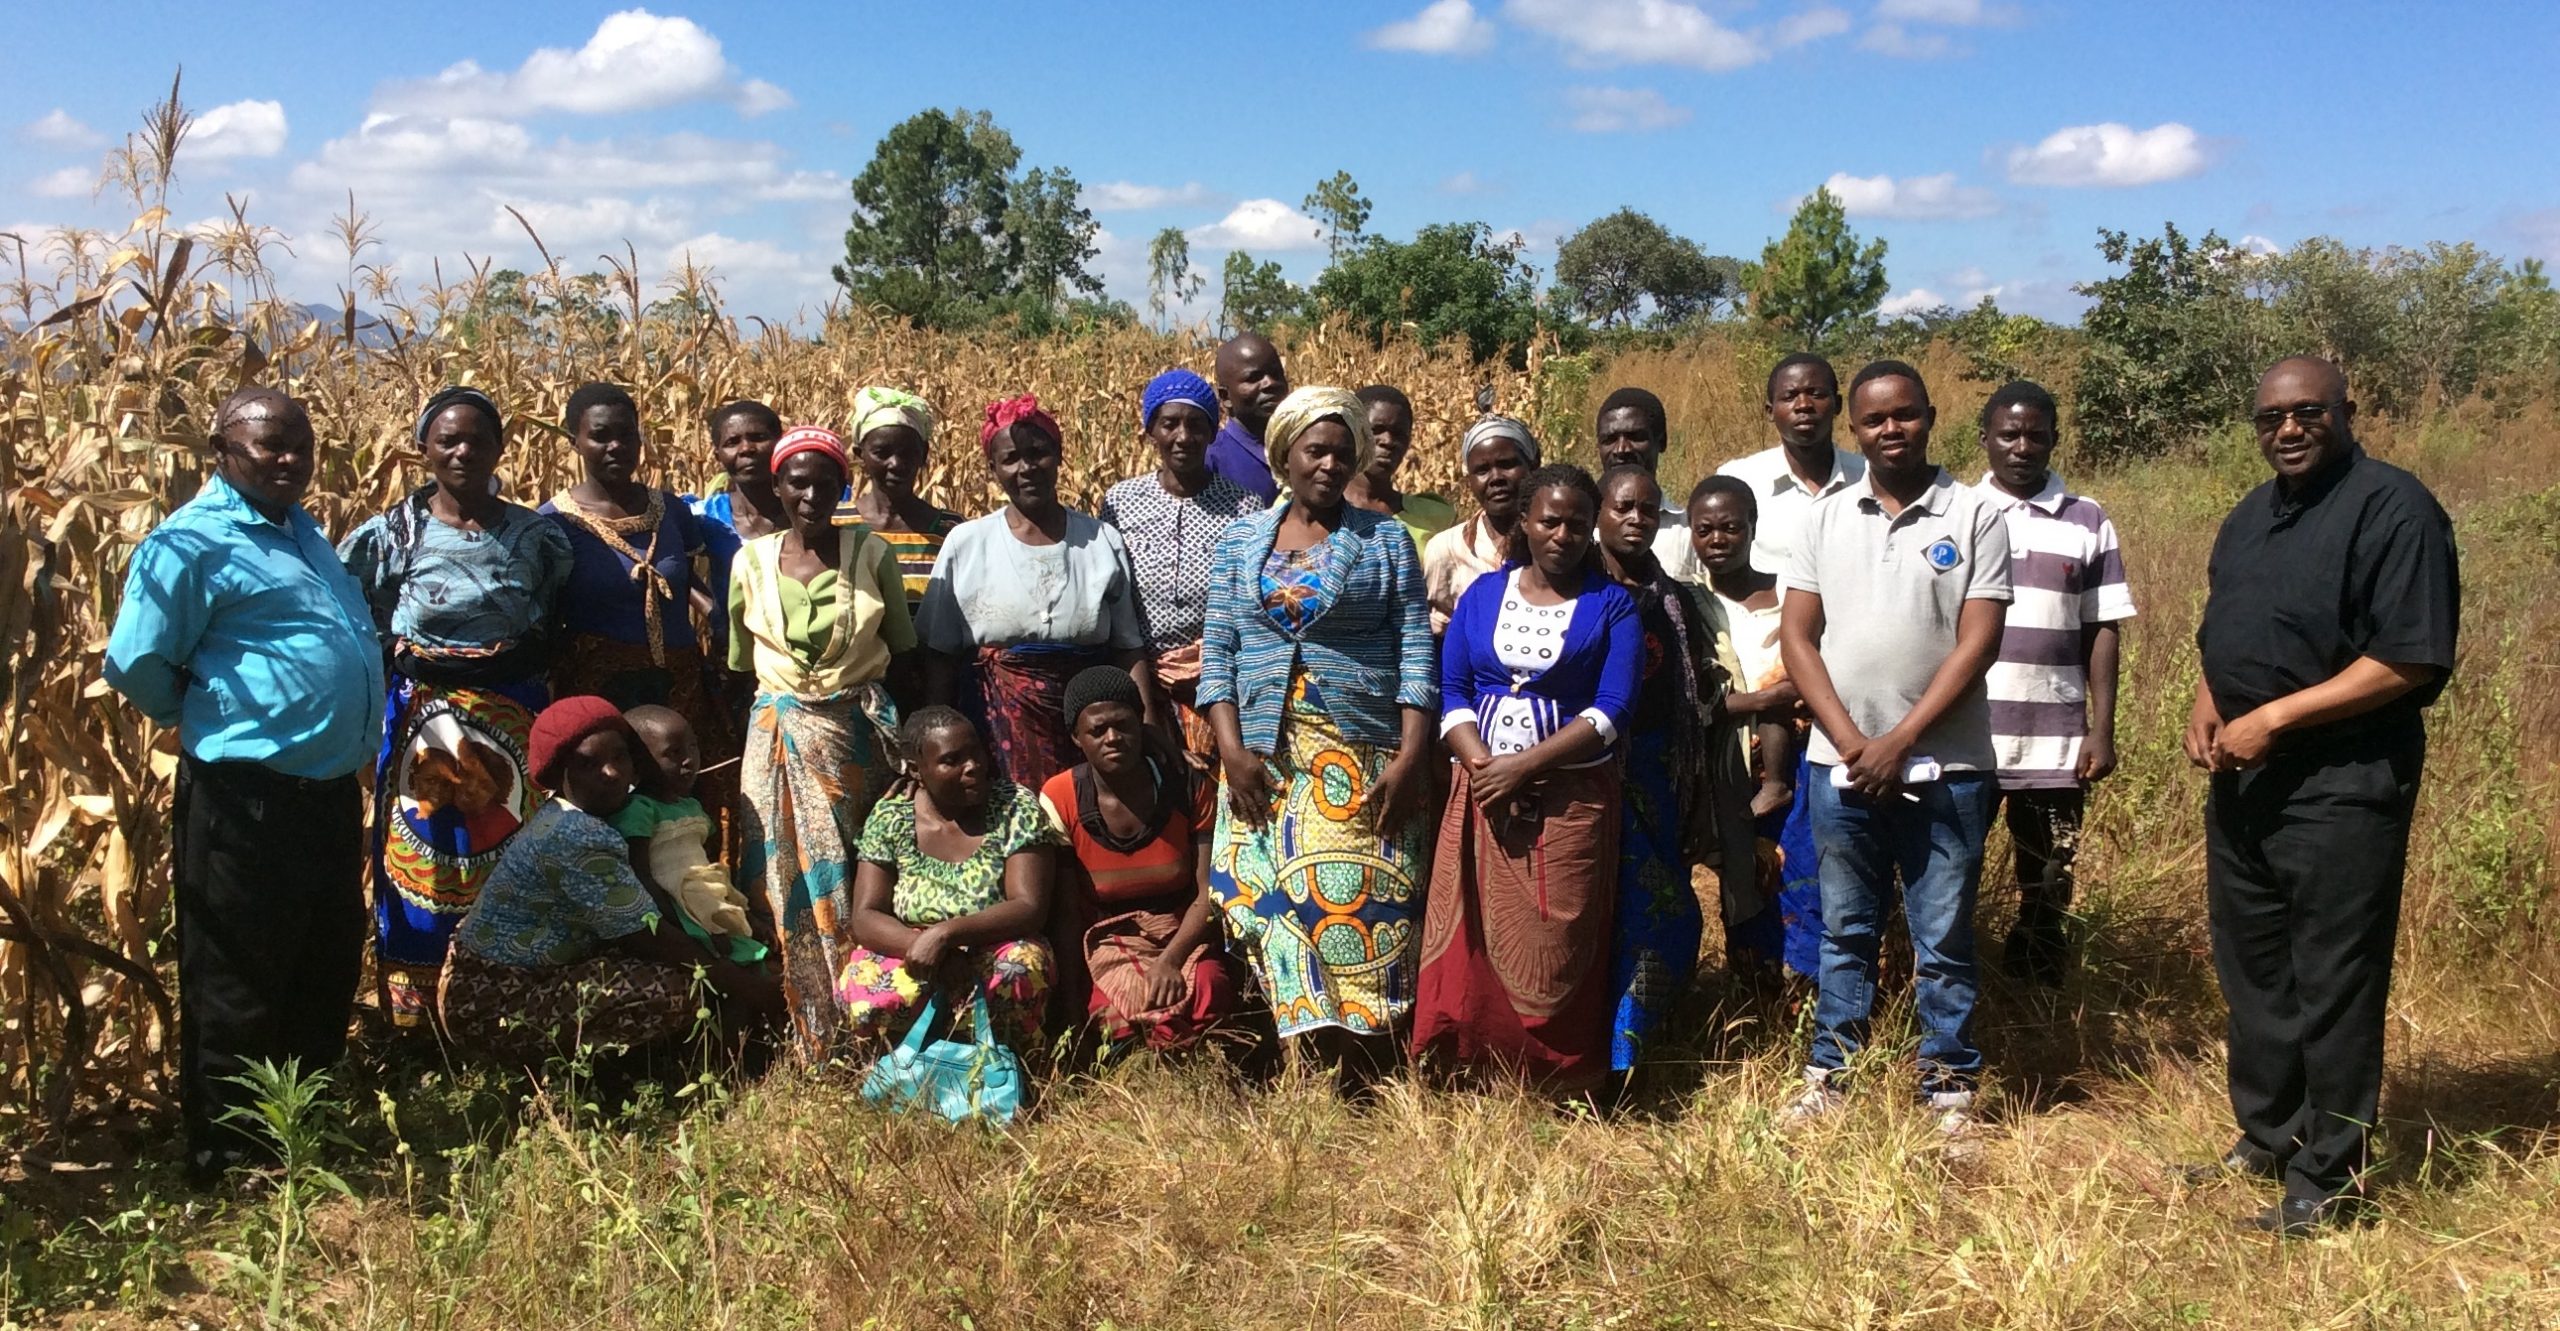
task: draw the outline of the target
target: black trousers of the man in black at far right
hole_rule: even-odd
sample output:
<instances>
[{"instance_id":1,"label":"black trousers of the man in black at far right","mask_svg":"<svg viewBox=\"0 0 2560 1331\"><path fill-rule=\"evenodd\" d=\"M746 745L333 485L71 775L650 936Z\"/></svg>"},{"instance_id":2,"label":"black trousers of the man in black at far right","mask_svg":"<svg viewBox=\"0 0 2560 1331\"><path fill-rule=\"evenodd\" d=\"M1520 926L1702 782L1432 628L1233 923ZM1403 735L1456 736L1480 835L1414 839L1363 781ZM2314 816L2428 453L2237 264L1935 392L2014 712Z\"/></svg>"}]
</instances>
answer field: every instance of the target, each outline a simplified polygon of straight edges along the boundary
<instances>
[{"instance_id":1,"label":"black trousers of the man in black at far right","mask_svg":"<svg viewBox=\"0 0 2560 1331\"><path fill-rule=\"evenodd\" d=\"M2289 1198L2360 1188L2424 740L2212 778L2204 896L2230 1003L2240 1154Z\"/></svg>"}]
</instances>

